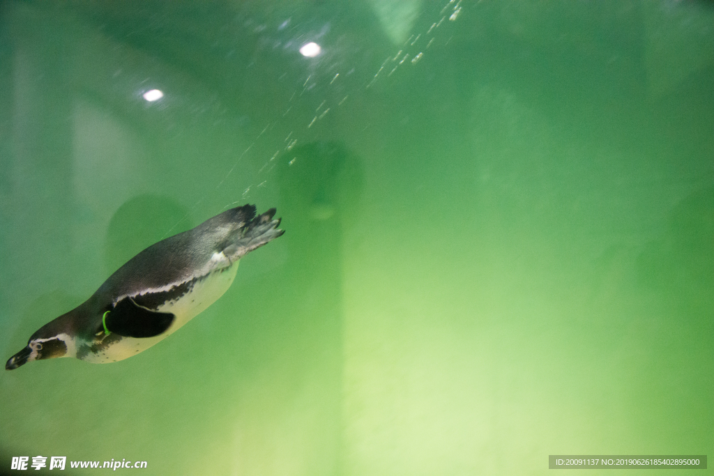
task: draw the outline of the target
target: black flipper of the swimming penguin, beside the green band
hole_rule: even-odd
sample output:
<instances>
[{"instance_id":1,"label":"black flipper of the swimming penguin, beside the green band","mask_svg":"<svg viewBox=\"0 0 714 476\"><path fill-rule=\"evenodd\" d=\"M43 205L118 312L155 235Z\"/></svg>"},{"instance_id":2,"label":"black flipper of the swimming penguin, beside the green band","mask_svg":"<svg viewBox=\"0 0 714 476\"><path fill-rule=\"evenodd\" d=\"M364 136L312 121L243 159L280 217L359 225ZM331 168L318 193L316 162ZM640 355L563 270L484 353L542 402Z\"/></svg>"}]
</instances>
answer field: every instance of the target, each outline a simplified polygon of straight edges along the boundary
<instances>
[{"instance_id":1,"label":"black flipper of the swimming penguin, beside the green band","mask_svg":"<svg viewBox=\"0 0 714 476\"><path fill-rule=\"evenodd\" d=\"M166 332L176 315L142 308L126 297L106 314L106 330L123 337L149 338Z\"/></svg>"}]
</instances>

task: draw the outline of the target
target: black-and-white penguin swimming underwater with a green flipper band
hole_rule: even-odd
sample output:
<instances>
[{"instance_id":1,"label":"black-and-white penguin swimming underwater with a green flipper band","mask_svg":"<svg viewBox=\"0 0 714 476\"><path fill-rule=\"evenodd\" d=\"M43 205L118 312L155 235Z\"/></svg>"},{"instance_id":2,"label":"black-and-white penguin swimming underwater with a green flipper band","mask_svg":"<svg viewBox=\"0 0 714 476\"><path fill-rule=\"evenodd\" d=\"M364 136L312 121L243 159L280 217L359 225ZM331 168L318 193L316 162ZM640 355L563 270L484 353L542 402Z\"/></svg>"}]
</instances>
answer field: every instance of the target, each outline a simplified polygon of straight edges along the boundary
<instances>
[{"instance_id":1,"label":"black-and-white penguin swimming underwater with a green flipper band","mask_svg":"<svg viewBox=\"0 0 714 476\"><path fill-rule=\"evenodd\" d=\"M191 230L154 243L121 266L96 293L43 325L5 364L74 357L111 363L164 340L230 288L238 261L281 236L271 208L231 208Z\"/></svg>"}]
</instances>

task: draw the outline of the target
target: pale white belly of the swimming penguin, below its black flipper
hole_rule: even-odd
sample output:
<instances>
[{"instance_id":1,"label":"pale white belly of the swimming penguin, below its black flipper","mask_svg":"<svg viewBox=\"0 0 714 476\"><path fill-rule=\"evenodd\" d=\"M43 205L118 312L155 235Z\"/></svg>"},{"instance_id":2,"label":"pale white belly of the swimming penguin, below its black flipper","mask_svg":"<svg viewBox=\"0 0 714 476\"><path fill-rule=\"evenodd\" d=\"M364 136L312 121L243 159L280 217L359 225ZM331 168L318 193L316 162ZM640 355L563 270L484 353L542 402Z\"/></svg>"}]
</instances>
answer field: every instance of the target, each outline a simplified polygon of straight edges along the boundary
<instances>
[{"instance_id":1,"label":"pale white belly of the swimming penguin, below its black flipper","mask_svg":"<svg viewBox=\"0 0 714 476\"><path fill-rule=\"evenodd\" d=\"M159 343L166 337L176 332L178 328L186 324L196 315L206 310L209 305L213 304L220 298L223 293L226 293L228 288L233 283L233 278L236 278L238 271L238 261L233 263L229 268L224 270L216 270L210 273L206 278L198 280L191 291L178 298L178 300L170 301L161 305L159 311L162 313L172 313L176 315L174 322L171 323L169 329L161 335L151 338L131 338L124 337L119 342L109 345L104 350L99 350L97 353L89 353L82 358L86 362L91 363L110 363L118 360L124 360L150 348L152 345Z\"/></svg>"}]
</instances>

